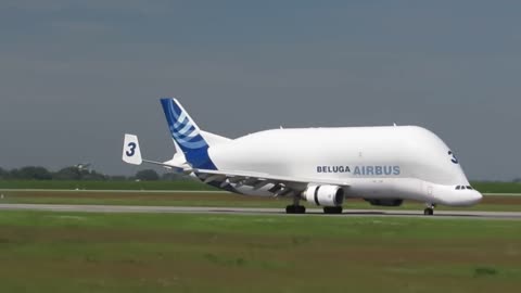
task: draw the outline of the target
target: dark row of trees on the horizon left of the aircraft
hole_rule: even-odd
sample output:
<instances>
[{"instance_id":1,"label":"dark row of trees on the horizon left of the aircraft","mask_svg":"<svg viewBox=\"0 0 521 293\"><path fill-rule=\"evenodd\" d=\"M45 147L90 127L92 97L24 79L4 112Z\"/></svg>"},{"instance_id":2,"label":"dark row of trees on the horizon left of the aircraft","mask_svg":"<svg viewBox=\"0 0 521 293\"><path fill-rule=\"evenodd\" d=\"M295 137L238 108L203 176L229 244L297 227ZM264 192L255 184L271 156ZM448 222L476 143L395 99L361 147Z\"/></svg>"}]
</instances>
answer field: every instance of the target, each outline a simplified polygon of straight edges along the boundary
<instances>
[{"instance_id":1,"label":"dark row of trees on the horizon left of the aircraft","mask_svg":"<svg viewBox=\"0 0 521 293\"><path fill-rule=\"evenodd\" d=\"M110 176L92 169L78 168L77 166L64 167L58 171L51 171L41 166L26 166L14 169L4 169L0 167L0 180L157 181L178 179L182 179L182 176L168 173L160 175L153 169L139 170L134 176Z\"/></svg>"}]
</instances>

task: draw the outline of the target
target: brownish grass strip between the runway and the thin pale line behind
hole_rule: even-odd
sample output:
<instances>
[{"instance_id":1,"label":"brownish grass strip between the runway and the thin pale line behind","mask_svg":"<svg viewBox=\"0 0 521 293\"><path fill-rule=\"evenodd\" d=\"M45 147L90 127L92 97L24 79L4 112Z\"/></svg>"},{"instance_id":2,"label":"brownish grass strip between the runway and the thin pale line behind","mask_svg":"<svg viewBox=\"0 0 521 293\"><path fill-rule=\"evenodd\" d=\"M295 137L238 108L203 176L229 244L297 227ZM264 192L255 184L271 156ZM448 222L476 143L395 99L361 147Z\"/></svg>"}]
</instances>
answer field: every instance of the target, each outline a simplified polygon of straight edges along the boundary
<instances>
[{"instance_id":1,"label":"brownish grass strip between the runway and the thin pale line behind","mask_svg":"<svg viewBox=\"0 0 521 293\"><path fill-rule=\"evenodd\" d=\"M93 191L3 191L0 203L26 204L109 204L109 205L161 205L161 206L237 206L237 207L280 207L290 203L288 199L244 196L231 193L212 192L93 192ZM314 205L307 205L314 206ZM371 206L361 200L346 200L344 207L379 209L423 211L421 203L406 202L401 207ZM521 212L521 196L485 196L472 207L436 207L444 209L505 211Z\"/></svg>"}]
</instances>

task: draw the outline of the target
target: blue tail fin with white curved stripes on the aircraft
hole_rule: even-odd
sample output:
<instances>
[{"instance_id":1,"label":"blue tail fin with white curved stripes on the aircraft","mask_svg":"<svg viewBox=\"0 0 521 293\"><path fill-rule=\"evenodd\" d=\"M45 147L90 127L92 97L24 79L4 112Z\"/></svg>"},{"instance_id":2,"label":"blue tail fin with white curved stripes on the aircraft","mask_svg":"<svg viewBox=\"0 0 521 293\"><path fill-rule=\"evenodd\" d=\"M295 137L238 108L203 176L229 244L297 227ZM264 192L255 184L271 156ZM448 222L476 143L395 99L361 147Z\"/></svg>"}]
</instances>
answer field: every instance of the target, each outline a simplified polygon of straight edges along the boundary
<instances>
[{"instance_id":1,"label":"blue tail fin with white curved stripes on the aircraft","mask_svg":"<svg viewBox=\"0 0 521 293\"><path fill-rule=\"evenodd\" d=\"M217 169L208 156L208 143L182 105L173 98L161 99L171 138L194 168Z\"/></svg>"}]
</instances>

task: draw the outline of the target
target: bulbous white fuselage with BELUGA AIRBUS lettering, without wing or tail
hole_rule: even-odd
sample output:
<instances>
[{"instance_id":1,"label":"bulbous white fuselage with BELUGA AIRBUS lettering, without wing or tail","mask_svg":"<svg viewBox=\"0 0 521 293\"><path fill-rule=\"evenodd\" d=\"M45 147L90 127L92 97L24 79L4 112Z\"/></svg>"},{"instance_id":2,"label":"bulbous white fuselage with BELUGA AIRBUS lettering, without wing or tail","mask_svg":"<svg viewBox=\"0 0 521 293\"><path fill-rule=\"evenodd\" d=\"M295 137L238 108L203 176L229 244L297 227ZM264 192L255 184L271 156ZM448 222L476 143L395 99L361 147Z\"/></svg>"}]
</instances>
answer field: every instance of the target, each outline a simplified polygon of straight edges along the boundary
<instances>
[{"instance_id":1,"label":"bulbous white fuselage with BELUGA AIRBUS lettering, without wing or tail","mask_svg":"<svg viewBox=\"0 0 521 293\"><path fill-rule=\"evenodd\" d=\"M278 176L345 179L347 198L401 199L444 205L472 205L482 195L450 149L416 126L275 129L212 145L219 169ZM456 187L462 186L462 189ZM266 189L242 187L251 195Z\"/></svg>"}]
</instances>

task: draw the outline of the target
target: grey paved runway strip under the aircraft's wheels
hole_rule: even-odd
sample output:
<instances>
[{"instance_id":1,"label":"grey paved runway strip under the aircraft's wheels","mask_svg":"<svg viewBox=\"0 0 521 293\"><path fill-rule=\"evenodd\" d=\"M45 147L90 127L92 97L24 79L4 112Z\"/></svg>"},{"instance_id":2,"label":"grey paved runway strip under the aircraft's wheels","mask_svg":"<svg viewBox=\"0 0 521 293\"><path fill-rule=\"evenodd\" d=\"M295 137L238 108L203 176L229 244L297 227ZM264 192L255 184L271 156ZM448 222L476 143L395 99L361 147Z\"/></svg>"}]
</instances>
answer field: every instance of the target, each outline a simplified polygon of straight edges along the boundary
<instances>
[{"instance_id":1,"label":"grey paved runway strip under the aircraft's wheels","mask_svg":"<svg viewBox=\"0 0 521 293\"><path fill-rule=\"evenodd\" d=\"M47 211L79 213L171 213L171 214L223 214L223 215L287 215L283 208L255 207L201 207L201 206L131 206L131 205L65 205L65 204L0 204L0 211ZM319 208L308 208L306 215L327 217L421 217L459 219L509 219L521 220L521 212L436 211L434 216L424 216L422 211L344 209L341 215L323 215Z\"/></svg>"}]
</instances>

